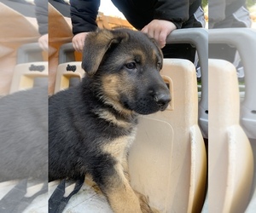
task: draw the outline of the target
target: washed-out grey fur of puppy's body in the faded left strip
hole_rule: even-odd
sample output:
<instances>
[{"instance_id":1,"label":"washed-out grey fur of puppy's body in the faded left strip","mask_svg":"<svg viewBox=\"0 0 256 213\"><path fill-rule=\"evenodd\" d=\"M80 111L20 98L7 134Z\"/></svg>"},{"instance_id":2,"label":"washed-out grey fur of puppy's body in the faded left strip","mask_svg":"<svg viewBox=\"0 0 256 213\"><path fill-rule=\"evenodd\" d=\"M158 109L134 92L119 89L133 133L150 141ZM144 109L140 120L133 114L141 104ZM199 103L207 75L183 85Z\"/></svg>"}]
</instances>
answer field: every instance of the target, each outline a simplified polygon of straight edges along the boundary
<instances>
[{"instance_id":1,"label":"washed-out grey fur of puppy's body in the faded left strip","mask_svg":"<svg viewBox=\"0 0 256 213\"><path fill-rule=\"evenodd\" d=\"M0 99L0 181L48 178L47 88Z\"/></svg>"}]
</instances>

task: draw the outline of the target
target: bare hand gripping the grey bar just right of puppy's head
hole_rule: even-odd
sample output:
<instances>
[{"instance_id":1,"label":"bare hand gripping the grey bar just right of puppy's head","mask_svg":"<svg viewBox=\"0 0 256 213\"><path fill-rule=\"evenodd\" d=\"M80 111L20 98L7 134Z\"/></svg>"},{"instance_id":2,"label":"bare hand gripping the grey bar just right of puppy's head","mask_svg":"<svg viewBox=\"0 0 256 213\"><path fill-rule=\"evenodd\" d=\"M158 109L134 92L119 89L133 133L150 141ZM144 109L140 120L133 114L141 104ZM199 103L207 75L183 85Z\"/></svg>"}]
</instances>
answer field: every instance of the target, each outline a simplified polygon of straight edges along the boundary
<instances>
[{"instance_id":1,"label":"bare hand gripping the grey bar just right of puppy's head","mask_svg":"<svg viewBox=\"0 0 256 213\"><path fill-rule=\"evenodd\" d=\"M153 37L160 48L166 46L166 37L177 27L169 20L152 20L147 26L144 26L142 32Z\"/></svg>"}]
</instances>

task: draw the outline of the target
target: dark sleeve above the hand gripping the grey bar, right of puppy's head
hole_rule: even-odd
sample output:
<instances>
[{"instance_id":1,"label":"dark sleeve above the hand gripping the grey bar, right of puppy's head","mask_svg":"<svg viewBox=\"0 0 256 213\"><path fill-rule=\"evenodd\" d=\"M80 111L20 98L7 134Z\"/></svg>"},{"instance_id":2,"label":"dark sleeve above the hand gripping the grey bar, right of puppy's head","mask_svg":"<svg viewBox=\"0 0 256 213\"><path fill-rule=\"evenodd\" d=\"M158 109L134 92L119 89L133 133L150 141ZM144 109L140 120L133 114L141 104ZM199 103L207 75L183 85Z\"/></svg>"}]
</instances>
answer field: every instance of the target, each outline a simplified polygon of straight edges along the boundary
<instances>
[{"instance_id":1,"label":"dark sleeve above the hand gripping the grey bar, right of puppy's head","mask_svg":"<svg viewBox=\"0 0 256 213\"><path fill-rule=\"evenodd\" d=\"M189 2L191 0L158 0L154 7L154 19L170 20L179 29L183 22L189 20Z\"/></svg>"}]
</instances>

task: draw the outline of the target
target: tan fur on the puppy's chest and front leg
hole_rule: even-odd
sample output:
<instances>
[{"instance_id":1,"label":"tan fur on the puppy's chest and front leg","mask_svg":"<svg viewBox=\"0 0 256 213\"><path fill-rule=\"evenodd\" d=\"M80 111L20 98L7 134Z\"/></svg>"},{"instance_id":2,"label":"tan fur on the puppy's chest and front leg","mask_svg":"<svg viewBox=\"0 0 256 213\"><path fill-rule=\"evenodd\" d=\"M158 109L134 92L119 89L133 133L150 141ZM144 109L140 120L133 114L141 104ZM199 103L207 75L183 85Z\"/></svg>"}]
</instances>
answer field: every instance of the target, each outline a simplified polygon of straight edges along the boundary
<instances>
[{"instance_id":1,"label":"tan fur on the puppy's chest and front leg","mask_svg":"<svg viewBox=\"0 0 256 213\"><path fill-rule=\"evenodd\" d=\"M109 180L108 185L114 190L108 190L108 202L115 213L156 213L150 209L148 199L141 193L133 191L130 186L127 151L135 137L135 131L129 137L120 137L102 147L102 152L109 153L117 160L116 174Z\"/></svg>"}]
</instances>

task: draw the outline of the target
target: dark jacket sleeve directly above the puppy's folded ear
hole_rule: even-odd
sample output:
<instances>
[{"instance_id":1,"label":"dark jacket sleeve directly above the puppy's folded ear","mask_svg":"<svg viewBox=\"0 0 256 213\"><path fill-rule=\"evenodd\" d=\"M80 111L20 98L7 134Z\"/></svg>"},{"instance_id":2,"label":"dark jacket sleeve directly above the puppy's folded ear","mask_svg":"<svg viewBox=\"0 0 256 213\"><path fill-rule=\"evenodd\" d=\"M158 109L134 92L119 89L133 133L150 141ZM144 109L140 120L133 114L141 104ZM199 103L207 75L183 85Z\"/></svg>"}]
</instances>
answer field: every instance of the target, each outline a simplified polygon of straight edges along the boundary
<instances>
[{"instance_id":1,"label":"dark jacket sleeve directly above the puppy's folded ear","mask_svg":"<svg viewBox=\"0 0 256 213\"><path fill-rule=\"evenodd\" d=\"M100 0L70 0L73 34L96 31Z\"/></svg>"}]
</instances>

